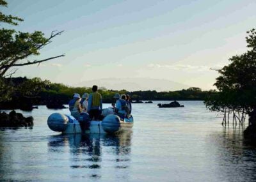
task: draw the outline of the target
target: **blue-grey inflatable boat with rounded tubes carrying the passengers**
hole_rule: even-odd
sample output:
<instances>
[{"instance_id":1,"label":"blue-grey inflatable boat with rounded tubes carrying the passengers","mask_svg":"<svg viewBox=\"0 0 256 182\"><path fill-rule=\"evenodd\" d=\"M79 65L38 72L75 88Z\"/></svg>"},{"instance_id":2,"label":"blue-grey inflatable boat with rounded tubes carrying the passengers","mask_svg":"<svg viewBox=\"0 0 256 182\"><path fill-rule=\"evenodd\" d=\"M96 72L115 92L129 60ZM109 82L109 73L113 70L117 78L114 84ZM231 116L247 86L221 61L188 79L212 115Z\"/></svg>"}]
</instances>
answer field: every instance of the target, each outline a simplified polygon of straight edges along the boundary
<instances>
[{"instance_id":1,"label":"blue-grey inflatable boat with rounded tubes carrying the passengers","mask_svg":"<svg viewBox=\"0 0 256 182\"><path fill-rule=\"evenodd\" d=\"M123 121L119 116L109 114L102 121L90 121L88 114L84 113L78 121L68 114L53 113L47 119L47 125L54 132L62 133L120 133L131 130L133 118L124 118Z\"/></svg>"}]
</instances>

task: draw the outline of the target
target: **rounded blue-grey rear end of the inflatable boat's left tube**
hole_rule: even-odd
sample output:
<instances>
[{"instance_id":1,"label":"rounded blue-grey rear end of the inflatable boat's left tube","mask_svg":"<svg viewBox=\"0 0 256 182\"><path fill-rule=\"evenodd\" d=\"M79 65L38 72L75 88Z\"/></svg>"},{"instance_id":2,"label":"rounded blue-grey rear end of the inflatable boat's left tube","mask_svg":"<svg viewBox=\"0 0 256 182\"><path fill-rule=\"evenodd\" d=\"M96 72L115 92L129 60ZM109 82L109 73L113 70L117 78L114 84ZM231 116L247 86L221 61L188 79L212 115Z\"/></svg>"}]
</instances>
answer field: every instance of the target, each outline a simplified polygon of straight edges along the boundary
<instances>
[{"instance_id":1,"label":"rounded blue-grey rear end of the inflatable boat's left tube","mask_svg":"<svg viewBox=\"0 0 256 182\"><path fill-rule=\"evenodd\" d=\"M47 119L47 125L54 132L64 132L67 129L68 118L65 114L53 113Z\"/></svg>"}]
</instances>

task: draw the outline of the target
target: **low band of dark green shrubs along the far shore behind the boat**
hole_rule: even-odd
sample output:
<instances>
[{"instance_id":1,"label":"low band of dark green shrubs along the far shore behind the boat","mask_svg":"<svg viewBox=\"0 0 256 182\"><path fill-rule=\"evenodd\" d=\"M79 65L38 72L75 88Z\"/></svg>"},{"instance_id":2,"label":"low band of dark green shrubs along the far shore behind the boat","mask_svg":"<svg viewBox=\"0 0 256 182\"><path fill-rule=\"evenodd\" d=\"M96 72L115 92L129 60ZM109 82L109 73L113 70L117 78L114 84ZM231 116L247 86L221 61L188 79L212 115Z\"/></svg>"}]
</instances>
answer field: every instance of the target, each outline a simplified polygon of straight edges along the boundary
<instances>
[{"instance_id":1,"label":"low band of dark green shrubs along the far shore behind the boat","mask_svg":"<svg viewBox=\"0 0 256 182\"><path fill-rule=\"evenodd\" d=\"M70 87L52 83L40 78L28 79L16 77L4 79L10 86L9 100L0 102L0 109L32 110L34 105L47 105L49 109L64 109L74 93L91 93L91 87ZM99 87L104 103L112 103L115 93L131 95L134 103L141 100L205 100L210 91L202 91L198 87L190 87L180 91L127 91L122 89L108 90Z\"/></svg>"}]
</instances>

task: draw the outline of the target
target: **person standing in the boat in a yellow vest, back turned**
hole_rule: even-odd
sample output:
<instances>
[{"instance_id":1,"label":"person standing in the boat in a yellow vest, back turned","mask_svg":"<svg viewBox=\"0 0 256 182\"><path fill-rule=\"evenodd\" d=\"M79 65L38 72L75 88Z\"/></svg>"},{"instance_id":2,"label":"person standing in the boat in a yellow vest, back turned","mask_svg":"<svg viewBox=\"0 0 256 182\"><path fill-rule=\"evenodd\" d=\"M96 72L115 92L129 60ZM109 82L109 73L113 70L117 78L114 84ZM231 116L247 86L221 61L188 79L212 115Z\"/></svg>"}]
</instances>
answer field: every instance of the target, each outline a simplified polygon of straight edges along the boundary
<instances>
[{"instance_id":1,"label":"person standing in the boat in a yellow vest, back turned","mask_svg":"<svg viewBox=\"0 0 256 182\"><path fill-rule=\"evenodd\" d=\"M98 86L92 87L88 98L88 113L91 119L98 120L102 112L102 96L98 93Z\"/></svg>"}]
</instances>

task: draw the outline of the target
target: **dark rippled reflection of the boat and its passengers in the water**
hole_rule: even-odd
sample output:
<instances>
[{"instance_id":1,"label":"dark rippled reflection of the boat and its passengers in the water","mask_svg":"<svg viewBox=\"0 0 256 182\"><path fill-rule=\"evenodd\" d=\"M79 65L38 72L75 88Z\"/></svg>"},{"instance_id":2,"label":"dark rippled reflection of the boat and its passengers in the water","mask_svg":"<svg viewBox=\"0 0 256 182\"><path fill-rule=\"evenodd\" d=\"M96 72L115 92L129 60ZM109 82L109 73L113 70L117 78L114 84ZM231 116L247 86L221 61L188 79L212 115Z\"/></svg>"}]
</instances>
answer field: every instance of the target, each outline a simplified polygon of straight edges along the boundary
<instances>
[{"instance_id":1,"label":"dark rippled reflection of the boat and its passengers in the water","mask_svg":"<svg viewBox=\"0 0 256 182\"><path fill-rule=\"evenodd\" d=\"M67 157L71 178L79 174L88 173L90 178L101 178L103 168L127 169L131 161L132 133L118 135L54 135L49 138L48 152L54 160L61 160L60 156ZM54 154L59 156L54 158ZM126 173L126 172L125 172ZM120 174L118 174L120 175Z\"/></svg>"}]
</instances>

